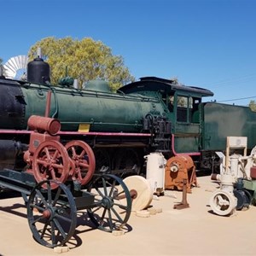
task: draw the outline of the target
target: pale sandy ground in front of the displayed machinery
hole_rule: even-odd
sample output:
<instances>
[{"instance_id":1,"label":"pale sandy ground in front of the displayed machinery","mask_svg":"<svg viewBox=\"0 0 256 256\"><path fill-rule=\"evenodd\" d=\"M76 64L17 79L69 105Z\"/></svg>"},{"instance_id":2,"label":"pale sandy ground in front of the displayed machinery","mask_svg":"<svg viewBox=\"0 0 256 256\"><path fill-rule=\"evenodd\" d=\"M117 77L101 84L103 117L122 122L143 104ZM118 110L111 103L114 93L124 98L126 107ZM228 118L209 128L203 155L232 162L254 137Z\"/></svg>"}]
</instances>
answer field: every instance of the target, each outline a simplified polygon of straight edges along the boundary
<instances>
[{"instance_id":1,"label":"pale sandy ground in front of the displayed machinery","mask_svg":"<svg viewBox=\"0 0 256 256\"><path fill-rule=\"evenodd\" d=\"M133 212L128 222L131 230L124 236L95 230L78 219L64 255L255 255L256 207L230 217L215 215L209 199L218 185L210 177L198 177L198 183L200 188L187 196L189 208L173 209L182 201L182 192L167 190L151 203L162 212L149 218ZM0 200L0 227L2 256L58 254L33 240L20 197Z\"/></svg>"}]
</instances>

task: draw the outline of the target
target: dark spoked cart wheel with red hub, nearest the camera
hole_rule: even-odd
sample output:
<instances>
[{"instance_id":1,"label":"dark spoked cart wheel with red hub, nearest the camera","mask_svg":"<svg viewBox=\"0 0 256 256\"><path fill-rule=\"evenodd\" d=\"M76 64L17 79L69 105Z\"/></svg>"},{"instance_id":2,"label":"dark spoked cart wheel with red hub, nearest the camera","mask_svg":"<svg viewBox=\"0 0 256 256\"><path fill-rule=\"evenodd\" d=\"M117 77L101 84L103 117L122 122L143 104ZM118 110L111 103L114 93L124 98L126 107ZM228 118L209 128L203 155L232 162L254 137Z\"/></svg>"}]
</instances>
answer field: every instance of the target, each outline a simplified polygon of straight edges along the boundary
<instances>
[{"instance_id":1,"label":"dark spoked cart wheel with red hub, nearest the camera","mask_svg":"<svg viewBox=\"0 0 256 256\"><path fill-rule=\"evenodd\" d=\"M40 244L64 245L73 236L77 224L73 195L63 183L53 180L38 183L27 202L27 219L33 237Z\"/></svg>"}]
</instances>

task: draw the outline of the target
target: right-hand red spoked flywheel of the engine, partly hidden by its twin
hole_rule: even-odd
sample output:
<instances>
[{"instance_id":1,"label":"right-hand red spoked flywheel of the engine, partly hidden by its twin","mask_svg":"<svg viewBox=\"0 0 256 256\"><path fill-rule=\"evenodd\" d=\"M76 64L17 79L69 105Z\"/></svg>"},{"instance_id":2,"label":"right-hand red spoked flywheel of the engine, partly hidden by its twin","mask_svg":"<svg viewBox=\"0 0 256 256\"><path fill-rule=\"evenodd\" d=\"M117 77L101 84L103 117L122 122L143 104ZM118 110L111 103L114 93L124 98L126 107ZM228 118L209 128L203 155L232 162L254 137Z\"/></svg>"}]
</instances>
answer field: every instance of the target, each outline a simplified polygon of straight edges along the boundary
<instances>
[{"instance_id":1,"label":"right-hand red spoked flywheel of the engine, partly hidden by its twin","mask_svg":"<svg viewBox=\"0 0 256 256\"><path fill-rule=\"evenodd\" d=\"M87 143L83 141L71 141L66 144L67 154L75 164L73 180L82 185L88 183L96 168L95 155Z\"/></svg>"}]
</instances>

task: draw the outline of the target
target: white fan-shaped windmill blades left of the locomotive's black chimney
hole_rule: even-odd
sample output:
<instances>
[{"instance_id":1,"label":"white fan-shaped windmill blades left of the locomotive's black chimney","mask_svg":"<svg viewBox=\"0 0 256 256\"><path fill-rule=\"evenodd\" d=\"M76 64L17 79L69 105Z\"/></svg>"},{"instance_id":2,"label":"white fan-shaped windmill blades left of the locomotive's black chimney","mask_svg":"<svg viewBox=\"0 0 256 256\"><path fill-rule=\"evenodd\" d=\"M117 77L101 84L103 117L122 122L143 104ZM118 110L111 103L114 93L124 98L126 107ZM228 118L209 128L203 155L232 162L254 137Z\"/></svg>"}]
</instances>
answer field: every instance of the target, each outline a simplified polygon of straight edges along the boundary
<instances>
[{"instance_id":1,"label":"white fan-shaped windmill blades left of the locomotive's black chimney","mask_svg":"<svg viewBox=\"0 0 256 256\"><path fill-rule=\"evenodd\" d=\"M3 73L7 79L26 79L26 65L28 57L26 55L18 55L12 57L3 65Z\"/></svg>"}]
</instances>

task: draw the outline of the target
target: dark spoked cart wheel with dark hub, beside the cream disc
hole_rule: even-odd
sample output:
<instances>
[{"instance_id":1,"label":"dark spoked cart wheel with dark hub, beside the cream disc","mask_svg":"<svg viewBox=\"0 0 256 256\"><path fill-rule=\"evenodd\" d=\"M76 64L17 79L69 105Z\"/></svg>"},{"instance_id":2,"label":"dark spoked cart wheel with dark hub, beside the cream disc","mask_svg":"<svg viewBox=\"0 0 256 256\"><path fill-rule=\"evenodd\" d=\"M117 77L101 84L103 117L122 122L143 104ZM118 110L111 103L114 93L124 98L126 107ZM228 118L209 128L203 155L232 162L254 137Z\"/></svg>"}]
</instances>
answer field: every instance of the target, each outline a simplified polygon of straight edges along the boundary
<instances>
[{"instance_id":1,"label":"dark spoked cart wheel with dark hub, beside the cream disc","mask_svg":"<svg viewBox=\"0 0 256 256\"><path fill-rule=\"evenodd\" d=\"M106 174L90 183L88 191L96 194L96 207L88 209L91 221L100 230L121 230L131 215L131 195L125 183Z\"/></svg>"}]
</instances>

